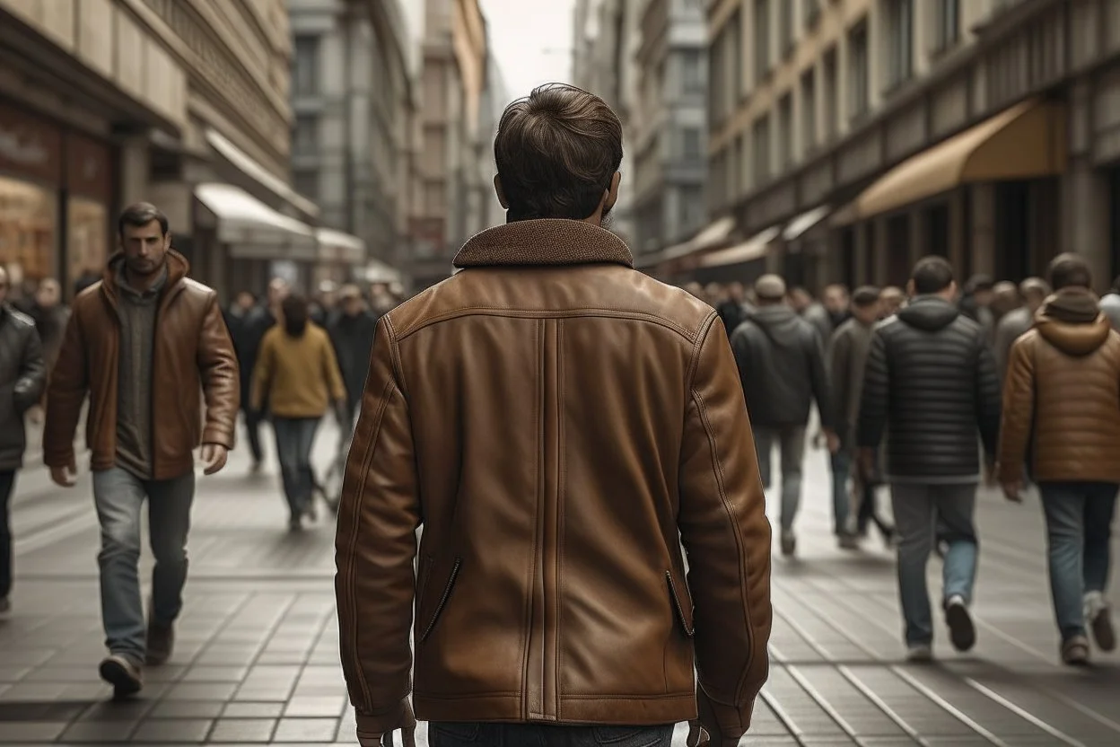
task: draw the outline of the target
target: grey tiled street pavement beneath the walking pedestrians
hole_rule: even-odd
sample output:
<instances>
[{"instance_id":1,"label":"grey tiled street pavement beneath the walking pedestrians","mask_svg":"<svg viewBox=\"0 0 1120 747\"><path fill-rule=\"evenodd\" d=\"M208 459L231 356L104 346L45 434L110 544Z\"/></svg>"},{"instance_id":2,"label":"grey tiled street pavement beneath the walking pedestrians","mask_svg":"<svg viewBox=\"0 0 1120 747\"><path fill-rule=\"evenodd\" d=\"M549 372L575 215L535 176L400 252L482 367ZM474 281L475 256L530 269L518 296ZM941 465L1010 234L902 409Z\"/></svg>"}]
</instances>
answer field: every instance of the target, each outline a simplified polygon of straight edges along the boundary
<instances>
[{"instance_id":1,"label":"grey tiled street pavement beneath the walking pedestrians","mask_svg":"<svg viewBox=\"0 0 1120 747\"><path fill-rule=\"evenodd\" d=\"M320 464L336 438L320 437ZM1099 657L1090 671L1056 663L1037 501L1011 506L984 493L979 644L958 656L941 631L941 663L914 666L902 663L889 554L875 541L841 553L828 536L824 465L810 452L799 559L775 560L774 666L744 744L1120 745L1117 659ZM248 476L239 451L223 475L199 479L174 663L149 670L143 697L125 704L105 702L96 678L88 479L64 492L29 469L17 489L0 743L354 744L337 665L332 529L289 535L272 473Z\"/></svg>"}]
</instances>

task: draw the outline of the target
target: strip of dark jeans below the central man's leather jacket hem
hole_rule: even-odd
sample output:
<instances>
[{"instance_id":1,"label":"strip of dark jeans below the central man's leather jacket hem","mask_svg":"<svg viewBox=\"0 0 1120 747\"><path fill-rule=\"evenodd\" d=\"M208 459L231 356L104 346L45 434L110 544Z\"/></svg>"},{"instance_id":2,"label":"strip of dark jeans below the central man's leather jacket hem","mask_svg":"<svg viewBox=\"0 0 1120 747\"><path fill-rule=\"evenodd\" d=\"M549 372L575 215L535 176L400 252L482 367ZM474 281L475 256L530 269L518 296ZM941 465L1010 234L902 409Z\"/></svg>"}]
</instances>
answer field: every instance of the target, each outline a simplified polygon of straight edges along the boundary
<instances>
[{"instance_id":1,"label":"strip of dark jeans below the central man's leather jacket hem","mask_svg":"<svg viewBox=\"0 0 1120 747\"><path fill-rule=\"evenodd\" d=\"M487 723L432 721L431 747L670 747L673 725L557 726L544 723Z\"/></svg>"}]
</instances>

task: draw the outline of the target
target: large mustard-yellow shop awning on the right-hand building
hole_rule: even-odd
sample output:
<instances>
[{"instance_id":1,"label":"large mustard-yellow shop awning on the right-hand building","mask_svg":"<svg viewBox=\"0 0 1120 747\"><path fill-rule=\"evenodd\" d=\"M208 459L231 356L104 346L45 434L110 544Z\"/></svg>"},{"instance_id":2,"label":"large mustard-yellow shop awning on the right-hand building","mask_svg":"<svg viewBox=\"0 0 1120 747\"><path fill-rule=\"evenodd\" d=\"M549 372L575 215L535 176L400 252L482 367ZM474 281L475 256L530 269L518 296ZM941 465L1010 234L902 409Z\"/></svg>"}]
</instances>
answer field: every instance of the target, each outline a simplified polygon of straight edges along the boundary
<instances>
[{"instance_id":1,"label":"large mustard-yellow shop awning on the right-hand building","mask_svg":"<svg viewBox=\"0 0 1120 747\"><path fill-rule=\"evenodd\" d=\"M856 211L867 218L963 184L1061 174L1064 121L1057 104L1018 103L903 161L864 190Z\"/></svg>"}]
</instances>

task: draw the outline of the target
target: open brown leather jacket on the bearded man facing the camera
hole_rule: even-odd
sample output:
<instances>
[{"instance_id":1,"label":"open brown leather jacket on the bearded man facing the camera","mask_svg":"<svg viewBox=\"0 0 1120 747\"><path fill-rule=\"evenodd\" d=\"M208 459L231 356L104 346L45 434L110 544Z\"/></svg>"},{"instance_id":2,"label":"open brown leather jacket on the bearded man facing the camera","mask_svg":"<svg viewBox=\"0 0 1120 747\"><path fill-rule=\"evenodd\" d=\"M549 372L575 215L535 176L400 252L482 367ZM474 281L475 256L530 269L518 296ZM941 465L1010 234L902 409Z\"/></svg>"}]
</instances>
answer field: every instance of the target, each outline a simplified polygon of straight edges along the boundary
<instances>
[{"instance_id":1,"label":"open brown leather jacket on the bearded man facing the camera","mask_svg":"<svg viewBox=\"0 0 1120 747\"><path fill-rule=\"evenodd\" d=\"M43 460L64 467L74 460L74 431L90 395L85 441L91 467L116 460L116 386L120 317L114 255L101 282L74 299L58 362L47 392ZM222 319L217 295L187 278L186 259L167 254L168 276L156 317L152 354L152 478L169 479L194 468L199 443L233 448L241 389L237 358ZM205 421L202 398L205 394Z\"/></svg>"}]
</instances>

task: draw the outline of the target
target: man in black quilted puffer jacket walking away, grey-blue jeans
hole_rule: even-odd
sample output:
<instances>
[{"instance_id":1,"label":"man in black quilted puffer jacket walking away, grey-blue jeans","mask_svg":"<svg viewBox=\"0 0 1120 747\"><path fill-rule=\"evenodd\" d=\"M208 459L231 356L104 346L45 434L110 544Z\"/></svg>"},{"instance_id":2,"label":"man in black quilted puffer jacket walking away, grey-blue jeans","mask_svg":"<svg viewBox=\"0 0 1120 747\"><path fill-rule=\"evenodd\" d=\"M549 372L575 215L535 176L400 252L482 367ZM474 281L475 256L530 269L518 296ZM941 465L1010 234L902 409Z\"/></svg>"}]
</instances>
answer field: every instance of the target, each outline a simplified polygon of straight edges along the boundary
<instances>
[{"instance_id":1,"label":"man in black quilted puffer jacket walking away, grey-blue jeans","mask_svg":"<svg viewBox=\"0 0 1120 747\"><path fill-rule=\"evenodd\" d=\"M921 260L908 292L911 304L871 338L857 440L860 469L868 475L887 433L885 477L899 534L906 646L912 661L926 661L933 623L925 571L937 535L948 544L942 608L953 647L968 651L976 644L969 606L978 553L977 441L979 433L986 454L995 455L1000 400L984 332L953 304L956 283L949 262Z\"/></svg>"}]
</instances>

